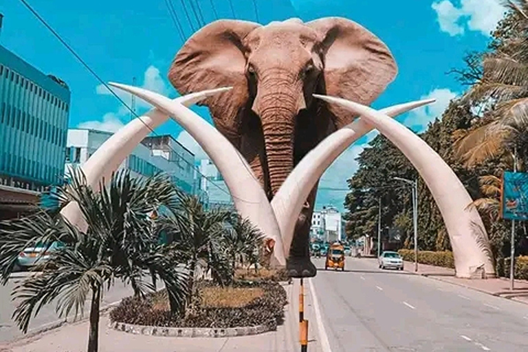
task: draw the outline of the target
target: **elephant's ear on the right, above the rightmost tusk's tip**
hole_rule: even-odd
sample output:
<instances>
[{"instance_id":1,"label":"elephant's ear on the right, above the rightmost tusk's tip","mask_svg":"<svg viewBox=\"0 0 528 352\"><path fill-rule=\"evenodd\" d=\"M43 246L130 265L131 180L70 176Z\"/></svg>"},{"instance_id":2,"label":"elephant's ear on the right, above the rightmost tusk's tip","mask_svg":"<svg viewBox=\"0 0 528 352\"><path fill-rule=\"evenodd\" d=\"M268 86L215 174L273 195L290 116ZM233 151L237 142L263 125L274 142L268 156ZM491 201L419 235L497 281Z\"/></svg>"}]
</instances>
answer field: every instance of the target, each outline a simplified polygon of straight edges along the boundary
<instances>
[{"instance_id":1,"label":"elephant's ear on the right, above the rightmost tusk's tip","mask_svg":"<svg viewBox=\"0 0 528 352\"><path fill-rule=\"evenodd\" d=\"M329 17L306 25L321 36L324 94L370 105L397 75L391 51L358 23ZM335 116L338 129L355 118L336 105L329 105L328 109Z\"/></svg>"}]
</instances>

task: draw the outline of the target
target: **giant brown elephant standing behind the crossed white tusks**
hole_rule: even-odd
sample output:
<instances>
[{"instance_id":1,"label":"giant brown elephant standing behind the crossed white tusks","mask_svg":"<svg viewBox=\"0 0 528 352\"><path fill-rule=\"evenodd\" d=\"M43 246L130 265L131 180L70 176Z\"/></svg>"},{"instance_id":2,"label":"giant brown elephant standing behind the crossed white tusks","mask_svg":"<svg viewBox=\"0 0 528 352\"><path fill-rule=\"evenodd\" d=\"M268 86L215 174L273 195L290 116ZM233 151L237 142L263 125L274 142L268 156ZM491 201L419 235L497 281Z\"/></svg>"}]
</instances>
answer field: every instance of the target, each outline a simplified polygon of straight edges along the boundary
<instances>
[{"instance_id":1,"label":"giant brown elephant standing behind the crossed white tusks","mask_svg":"<svg viewBox=\"0 0 528 352\"><path fill-rule=\"evenodd\" d=\"M313 94L370 105L397 75L388 47L358 23L327 17L260 25L214 21L175 54L168 80L179 94L217 87L229 91L199 104L247 160L271 201L312 148L357 115ZM309 232L318 183L300 212L287 253L290 277L316 276Z\"/></svg>"}]
</instances>

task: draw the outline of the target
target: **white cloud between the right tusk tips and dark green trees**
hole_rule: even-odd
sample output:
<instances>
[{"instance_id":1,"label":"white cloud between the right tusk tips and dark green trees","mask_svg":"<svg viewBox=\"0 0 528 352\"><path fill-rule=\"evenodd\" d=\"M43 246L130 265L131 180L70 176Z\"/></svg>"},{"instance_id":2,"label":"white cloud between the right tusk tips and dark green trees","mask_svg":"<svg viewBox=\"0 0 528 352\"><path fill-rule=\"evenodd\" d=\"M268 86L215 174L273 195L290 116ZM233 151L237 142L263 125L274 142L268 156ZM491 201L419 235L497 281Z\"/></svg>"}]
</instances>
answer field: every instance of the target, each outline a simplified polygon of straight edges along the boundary
<instances>
[{"instance_id":1,"label":"white cloud between the right tusk tips and dark green trees","mask_svg":"<svg viewBox=\"0 0 528 352\"><path fill-rule=\"evenodd\" d=\"M429 122L441 117L445 108L449 106L449 102L456 96L458 94L448 88L437 88L430 91L429 94L421 96L420 99L436 99L437 101L411 111L403 120L403 123L417 132L424 131L427 129Z\"/></svg>"}]
</instances>

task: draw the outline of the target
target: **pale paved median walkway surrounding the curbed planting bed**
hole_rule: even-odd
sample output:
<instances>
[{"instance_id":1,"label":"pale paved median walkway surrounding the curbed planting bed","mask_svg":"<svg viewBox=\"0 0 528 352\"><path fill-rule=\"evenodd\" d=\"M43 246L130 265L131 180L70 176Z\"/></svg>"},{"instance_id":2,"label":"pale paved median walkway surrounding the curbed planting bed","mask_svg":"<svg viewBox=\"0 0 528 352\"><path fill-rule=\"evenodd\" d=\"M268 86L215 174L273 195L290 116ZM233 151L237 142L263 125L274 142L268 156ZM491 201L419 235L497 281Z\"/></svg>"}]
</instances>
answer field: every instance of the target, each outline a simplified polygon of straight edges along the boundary
<instances>
[{"instance_id":1,"label":"pale paved median walkway surrounding the curbed planting bed","mask_svg":"<svg viewBox=\"0 0 528 352\"><path fill-rule=\"evenodd\" d=\"M285 306L285 321L276 331L261 335L240 336L236 338L168 338L158 336L143 336L115 331L108 327L109 317L101 317L99 329L100 352L294 352L300 349L298 333L298 280L293 285L284 286L288 295L289 304ZM305 285L305 294L307 292ZM315 318L311 313L311 300L305 300L307 318ZM2 352L85 352L88 343L87 321L64 325L53 331L42 333L34 338L14 342ZM309 325L309 351L319 352L316 342L316 322Z\"/></svg>"}]
</instances>

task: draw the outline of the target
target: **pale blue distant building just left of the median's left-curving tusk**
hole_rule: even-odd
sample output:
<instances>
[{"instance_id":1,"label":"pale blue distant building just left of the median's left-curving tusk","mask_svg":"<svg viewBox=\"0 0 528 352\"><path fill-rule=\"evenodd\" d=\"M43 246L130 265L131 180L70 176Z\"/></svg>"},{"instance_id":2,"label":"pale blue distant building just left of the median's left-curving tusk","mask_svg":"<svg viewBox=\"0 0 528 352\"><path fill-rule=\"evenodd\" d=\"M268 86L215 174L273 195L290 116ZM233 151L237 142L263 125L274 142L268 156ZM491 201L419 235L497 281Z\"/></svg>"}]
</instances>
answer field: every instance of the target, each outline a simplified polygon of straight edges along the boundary
<instances>
[{"instance_id":1,"label":"pale blue distant building just left of the median's left-curving tusk","mask_svg":"<svg viewBox=\"0 0 528 352\"><path fill-rule=\"evenodd\" d=\"M232 198L219 173L217 166L211 160L200 160L199 171L203 177L200 177L200 188L207 193L209 206L227 206L232 207Z\"/></svg>"}]
</instances>

